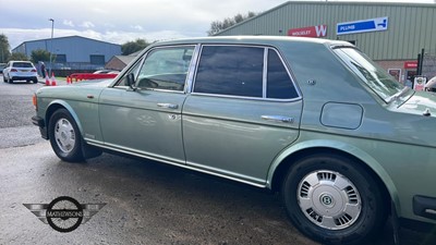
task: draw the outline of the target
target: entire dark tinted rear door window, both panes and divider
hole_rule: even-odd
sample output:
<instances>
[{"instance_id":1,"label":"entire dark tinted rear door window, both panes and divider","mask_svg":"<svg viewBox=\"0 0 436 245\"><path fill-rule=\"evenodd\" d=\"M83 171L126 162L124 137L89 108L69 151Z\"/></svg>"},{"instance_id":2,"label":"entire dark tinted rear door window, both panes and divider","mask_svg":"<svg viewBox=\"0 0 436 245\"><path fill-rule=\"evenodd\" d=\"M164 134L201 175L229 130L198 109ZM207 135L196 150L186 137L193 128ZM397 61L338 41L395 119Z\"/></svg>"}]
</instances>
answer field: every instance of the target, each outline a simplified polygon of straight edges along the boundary
<instances>
[{"instance_id":1,"label":"entire dark tinted rear door window, both panes and divider","mask_svg":"<svg viewBox=\"0 0 436 245\"><path fill-rule=\"evenodd\" d=\"M204 46L193 91L279 100L299 97L278 52L251 46Z\"/></svg>"}]
</instances>

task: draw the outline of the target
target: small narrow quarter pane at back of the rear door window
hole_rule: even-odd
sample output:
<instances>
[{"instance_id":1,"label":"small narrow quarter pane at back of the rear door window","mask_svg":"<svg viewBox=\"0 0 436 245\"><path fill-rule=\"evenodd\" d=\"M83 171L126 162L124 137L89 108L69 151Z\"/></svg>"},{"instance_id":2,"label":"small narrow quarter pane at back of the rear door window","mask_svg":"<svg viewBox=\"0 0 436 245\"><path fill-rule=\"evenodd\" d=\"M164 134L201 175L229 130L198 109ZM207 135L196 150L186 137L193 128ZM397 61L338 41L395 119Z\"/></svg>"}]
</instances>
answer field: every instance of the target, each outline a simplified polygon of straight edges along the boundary
<instances>
[{"instance_id":1,"label":"small narrow quarter pane at back of the rear door window","mask_svg":"<svg viewBox=\"0 0 436 245\"><path fill-rule=\"evenodd\" d=\"M280 57L272 49L268 50L267 98L290 99L298 97L295 87Z\"/></svg>"}]
</instances>

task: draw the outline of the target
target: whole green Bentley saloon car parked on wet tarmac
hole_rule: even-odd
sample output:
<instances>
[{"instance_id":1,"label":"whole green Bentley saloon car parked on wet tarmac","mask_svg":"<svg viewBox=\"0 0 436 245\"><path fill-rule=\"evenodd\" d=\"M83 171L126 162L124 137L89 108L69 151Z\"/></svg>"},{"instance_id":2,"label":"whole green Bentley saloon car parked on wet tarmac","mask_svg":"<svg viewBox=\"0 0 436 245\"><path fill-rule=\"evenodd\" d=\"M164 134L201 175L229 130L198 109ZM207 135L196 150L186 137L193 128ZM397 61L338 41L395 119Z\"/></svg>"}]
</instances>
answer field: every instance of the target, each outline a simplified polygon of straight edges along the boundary
<instances>
[{"instance_id":1,"label":"whole green Bentley saloon car parked on wet tarmac","mask_svg":"<svg viewBox=\"0 0 436 245\"><path fill-rule=\"evenodd\" d=\"M322 243L362 243L389 216L436 224L436 94L349 42L164 41L114 79L44 87L34 103L63 161L108 150L280 192Z\"/></svg>"}]
</instances>

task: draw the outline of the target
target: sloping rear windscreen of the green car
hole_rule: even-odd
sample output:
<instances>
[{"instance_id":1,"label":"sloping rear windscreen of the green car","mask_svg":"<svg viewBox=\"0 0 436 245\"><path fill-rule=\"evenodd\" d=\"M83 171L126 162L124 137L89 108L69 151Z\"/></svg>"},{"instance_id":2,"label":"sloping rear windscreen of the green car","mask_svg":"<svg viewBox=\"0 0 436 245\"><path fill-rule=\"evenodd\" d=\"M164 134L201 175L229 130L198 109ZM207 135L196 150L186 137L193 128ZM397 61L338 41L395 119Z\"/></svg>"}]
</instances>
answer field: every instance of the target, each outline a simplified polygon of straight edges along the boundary
<instances>
[{"instance_id":1,"label":"sloping rear windscreen of the green car","mask_svg":"<svg viewBox=\"0 0 436 245\"><path fill-rule=\"evenodd\" d=\"M338 47L334 51L362 81L385 102L404 91L404 85L397 82L366 54L353 47Z\"/></svg>"}]
</instances>

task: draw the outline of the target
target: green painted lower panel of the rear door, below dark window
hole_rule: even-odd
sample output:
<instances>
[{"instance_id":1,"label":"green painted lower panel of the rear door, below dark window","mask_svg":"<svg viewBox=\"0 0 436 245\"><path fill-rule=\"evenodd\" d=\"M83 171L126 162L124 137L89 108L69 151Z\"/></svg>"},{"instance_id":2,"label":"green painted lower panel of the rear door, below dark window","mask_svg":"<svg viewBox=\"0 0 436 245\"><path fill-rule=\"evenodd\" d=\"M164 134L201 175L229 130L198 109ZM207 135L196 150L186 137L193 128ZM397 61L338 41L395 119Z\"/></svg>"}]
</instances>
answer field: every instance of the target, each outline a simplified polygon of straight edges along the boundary
<instances>
[{"instance_id":1,"label":"green painted lower panel of the rear door, below dark window","mask_svg":"<svg viewBox=\"0 0 436 245\"><path fill-rule=\"evenodd\" d=\"M183 108L187 164L265 185L270 162L299 136L302 106L301 100L189 96ZM293 123L262 119L277 114Z\"/></svg>"}]
</instances>

